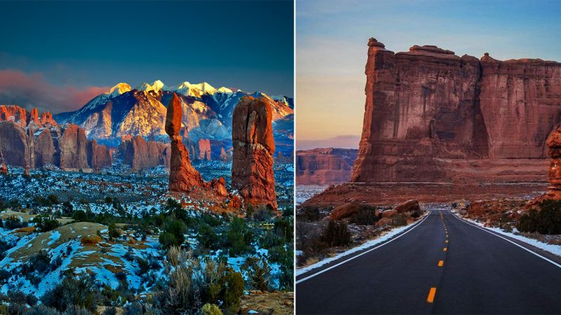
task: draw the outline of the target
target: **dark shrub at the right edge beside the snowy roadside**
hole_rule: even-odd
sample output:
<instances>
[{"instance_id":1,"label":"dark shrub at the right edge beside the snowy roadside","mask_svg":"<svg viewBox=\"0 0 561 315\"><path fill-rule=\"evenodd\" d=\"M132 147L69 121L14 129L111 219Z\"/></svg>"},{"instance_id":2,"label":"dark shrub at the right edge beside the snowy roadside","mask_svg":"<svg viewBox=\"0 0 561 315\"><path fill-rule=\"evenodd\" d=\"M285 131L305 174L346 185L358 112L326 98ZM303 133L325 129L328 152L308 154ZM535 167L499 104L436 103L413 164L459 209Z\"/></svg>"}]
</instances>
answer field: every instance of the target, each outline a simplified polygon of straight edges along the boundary
<instances>
[{"instance_id":1,"label":"dark shrub at the right edge beside the snowy roadside","mask_svg":"<svg viewBox=\"0 0 561 315\"><path fill-rule=\"evenodd\" d=\"M561 201L544 200L539 207L540 211L532 209L520 216L516 228L520 232L561 234Z\"/></svg>"}]
</instances>

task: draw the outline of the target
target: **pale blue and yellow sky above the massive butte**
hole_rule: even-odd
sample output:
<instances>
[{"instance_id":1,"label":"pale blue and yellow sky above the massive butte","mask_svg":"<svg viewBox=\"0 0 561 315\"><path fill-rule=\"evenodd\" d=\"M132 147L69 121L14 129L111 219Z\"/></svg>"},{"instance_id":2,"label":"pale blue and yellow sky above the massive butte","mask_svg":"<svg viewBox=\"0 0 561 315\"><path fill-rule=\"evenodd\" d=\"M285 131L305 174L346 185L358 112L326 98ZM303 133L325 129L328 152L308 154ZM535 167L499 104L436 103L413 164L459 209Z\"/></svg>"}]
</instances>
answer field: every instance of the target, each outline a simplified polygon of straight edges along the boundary
<instances>
[{"instance_id":1,"label":"pale blue and yellow sky above the massive butte","mask_svg":"<svg viewBox=\"0 0 561 315\"><path fill-rule=\"evenodd\" d=\"M370 37L395 52L438 45L457 55L561 61L561 1L302 0L296 16L297 142L306 146L360 136Z\"/></svg>"}]
</instances>

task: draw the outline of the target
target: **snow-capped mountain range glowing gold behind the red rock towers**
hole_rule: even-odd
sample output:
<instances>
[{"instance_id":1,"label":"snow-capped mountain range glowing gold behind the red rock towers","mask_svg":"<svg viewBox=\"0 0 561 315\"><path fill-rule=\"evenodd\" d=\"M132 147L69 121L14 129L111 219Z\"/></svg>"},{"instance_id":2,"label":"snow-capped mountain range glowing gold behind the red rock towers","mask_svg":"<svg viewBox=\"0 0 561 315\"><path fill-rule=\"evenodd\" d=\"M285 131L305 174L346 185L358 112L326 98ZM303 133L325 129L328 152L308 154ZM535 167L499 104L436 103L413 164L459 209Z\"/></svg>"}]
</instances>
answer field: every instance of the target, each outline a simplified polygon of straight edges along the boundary
<instances>
[{"instance_id":1,"label":"snow-capped mountain range glowing gold behind the red rock towers","mask_svg":"<svg viewBox=\"0 0 561 315\"><path fill-rule=\"evenodd\" d=\"M191 84L187 81L168 87L161 80L143 83L134 89L127 83L119 83L91 99L81 109L59 113L53 118L60 124L79 125L86 130L88 138L109 144L119 144L121 137L127 134L165 141L168 138L164 130L166 106L173 92L182 100L183 124L188 127L192 141L231 139L232 113L245 95L271 99L275 104L273 121L293 120L294 104L290 97L269 97L262 92L241 90L234 92L227 87L216 89L208 83ZM274 125L273 132L276 132ZM285 133L292 130L283 127L278 132L281 133L279 139L287 139Z\"/></svg>"}]
</instances>

